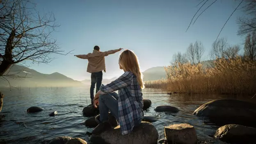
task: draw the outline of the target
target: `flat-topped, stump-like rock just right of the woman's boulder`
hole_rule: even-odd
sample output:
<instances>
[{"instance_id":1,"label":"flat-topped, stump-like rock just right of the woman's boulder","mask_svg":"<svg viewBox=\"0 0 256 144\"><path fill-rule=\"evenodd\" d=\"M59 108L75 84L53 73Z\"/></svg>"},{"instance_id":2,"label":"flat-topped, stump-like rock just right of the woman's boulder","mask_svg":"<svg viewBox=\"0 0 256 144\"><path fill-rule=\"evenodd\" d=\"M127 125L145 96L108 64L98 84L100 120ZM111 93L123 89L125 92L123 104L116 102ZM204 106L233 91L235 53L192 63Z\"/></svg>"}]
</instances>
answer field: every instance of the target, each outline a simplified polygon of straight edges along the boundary
<instances>
[{"instance_id":1,"label":"flat-topped, stump-like rock just right of the woman's boulder","mask_svg":"<svg viewBox=\"0 0 256 144\"><path fill-rule=\"evenodd\" d=\"M167 142L177 144L196 144L197 133L194 126L188 123L165 126L165 138Z\"/></svg>"}]
</instances>

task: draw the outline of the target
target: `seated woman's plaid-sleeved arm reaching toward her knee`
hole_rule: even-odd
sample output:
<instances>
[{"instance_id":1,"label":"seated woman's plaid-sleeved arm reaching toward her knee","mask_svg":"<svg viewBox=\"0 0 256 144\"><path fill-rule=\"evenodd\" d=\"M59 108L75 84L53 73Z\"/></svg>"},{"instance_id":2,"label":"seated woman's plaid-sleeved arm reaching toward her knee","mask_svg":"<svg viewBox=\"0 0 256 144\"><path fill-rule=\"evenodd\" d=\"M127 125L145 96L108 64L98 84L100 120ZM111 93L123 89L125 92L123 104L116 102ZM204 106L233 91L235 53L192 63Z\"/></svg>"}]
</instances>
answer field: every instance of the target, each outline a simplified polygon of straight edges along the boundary
<instances>
[{"instance_id":1,"label":"seated woman's plaid-sleeved arm reaching toward her knee","mask_svg":"<svg viewBox=\"0 0 256 144\"><path fill-rule=\"evenodd\" d=\"M116 80L110 82L109 84L105 86L100 87L101 93L111 93L116 90L119 90L123 87L127 87L132 83L133 80L133 73L130 71L126 71Z\"/></svg>"}]
</instances>

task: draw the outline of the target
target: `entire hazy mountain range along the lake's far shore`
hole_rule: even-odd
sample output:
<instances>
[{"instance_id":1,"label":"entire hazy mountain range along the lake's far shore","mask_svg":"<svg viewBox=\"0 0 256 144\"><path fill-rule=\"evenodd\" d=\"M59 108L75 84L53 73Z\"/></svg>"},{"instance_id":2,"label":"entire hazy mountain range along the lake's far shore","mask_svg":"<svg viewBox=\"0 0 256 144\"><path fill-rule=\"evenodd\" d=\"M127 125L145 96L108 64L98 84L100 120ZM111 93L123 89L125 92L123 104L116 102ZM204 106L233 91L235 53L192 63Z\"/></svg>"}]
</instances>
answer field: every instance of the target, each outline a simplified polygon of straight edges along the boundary
<instances>
[{"instance_id":1,"label":"entire hazy mountain range along the lake's far shore","mask_svg":"<svg viewBox=\"0 0 256 144\"><path fill-rule=\"evenodd\" d=\"M212 61L203 61L201 62L203 66L210 67L213 63ZM8 75L19 75L26 78L10 78L5 77L12 87L72 87L72 86L85 86L90 85L91 80L82 80L77 81L69 78L61 73L51 73L43 74L35 71L34 69L29 69L25 66L18 64L12 65L5 74ZM143 80L160 80L166 78L165 67L157 66L143 71L144 75ZM117 77L111 79L103 79L102 83L107 84L116 80ZM0 87L9 87L8 81L3 77L0 77Z\"/></svg>"}]
</instances>

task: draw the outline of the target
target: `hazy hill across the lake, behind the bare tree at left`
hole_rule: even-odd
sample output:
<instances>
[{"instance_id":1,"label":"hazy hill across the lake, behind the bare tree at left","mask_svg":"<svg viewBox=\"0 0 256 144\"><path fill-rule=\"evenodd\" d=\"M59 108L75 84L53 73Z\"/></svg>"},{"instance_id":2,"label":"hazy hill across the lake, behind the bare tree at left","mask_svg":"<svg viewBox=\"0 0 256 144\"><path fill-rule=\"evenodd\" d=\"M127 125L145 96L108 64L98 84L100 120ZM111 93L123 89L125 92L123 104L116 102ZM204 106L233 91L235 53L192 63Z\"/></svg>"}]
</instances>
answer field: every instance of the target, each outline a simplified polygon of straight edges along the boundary
<instances>
[{"instance_id":1,"label":"hazy hill across the lake, behind the bare tree at left","mask_svg":"<svg viewBox=\"0 0 256 144\"><path fill-rule=\"evenodd\" d=\"M82 82L68 78L61 73L43 74L18 64L12 65L5 74L19 75L26 78L7 78L13 87L71 87L82 86ZM9 83L3 78L0 79L0 87L9 87Z\"/></svg>"}]
</instances>

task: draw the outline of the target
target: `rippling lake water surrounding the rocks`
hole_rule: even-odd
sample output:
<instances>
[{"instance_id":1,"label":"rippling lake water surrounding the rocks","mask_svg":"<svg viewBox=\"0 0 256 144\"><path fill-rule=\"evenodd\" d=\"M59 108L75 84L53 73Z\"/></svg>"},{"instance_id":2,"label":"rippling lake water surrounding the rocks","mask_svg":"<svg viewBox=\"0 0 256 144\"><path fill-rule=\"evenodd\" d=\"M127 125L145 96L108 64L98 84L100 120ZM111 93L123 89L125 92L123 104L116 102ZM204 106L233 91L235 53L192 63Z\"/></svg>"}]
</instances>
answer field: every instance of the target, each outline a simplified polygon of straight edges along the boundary
<instances>
[{"instance_id":1,"label":"rippling lake water surrounding the rocks","mask_svg":"<svg viewBox=\"0 0 256 144\"><path fill-rule=\"evenodd\" d=\"M5 115L0 122L0 144L40 144L57 136L80 137L89 142L93 128L82 125L88 117L82 115L83 107L89 105L89 87L54 87L54 88L21 88L1 89L5 95L1 115ZM198 139L213 139L218 126L205 123L205 119L195 117L192 113L201 104L208 101L226 98L223 95L167 95L165 91L144 89L143 98L150 99L152 106L144 111L145 115L155 115L159 120L152 124L157 128L159 139L164 138L164 126L174 123L190 123L196 128ZM235 97L232 97L235 98ZM244 100L254 100L246 99ZM83 107L79 107L82 105ZM155 112L158 105L177 107L177 114ZM27 108L40 106L42 112L27 114ZM50 117L48 114L57 111L58 115ZM214 143L221 143L213 140ZM2 143L1 143L2 142Z\"/></svg>"}]
</instances>

